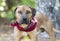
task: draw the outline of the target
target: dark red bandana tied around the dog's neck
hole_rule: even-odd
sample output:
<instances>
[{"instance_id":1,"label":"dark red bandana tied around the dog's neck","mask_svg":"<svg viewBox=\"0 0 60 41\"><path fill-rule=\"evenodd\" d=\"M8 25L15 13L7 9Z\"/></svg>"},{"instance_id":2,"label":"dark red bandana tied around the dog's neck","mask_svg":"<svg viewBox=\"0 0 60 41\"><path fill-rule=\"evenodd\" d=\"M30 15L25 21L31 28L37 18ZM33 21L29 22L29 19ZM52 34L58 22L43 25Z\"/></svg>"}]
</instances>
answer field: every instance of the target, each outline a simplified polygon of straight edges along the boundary
<instances>
[{"instance_id":1,"label":"dark red bandana tied around the dog's neck","mask_svg":"<svg viewBox=\"0 0 60 41\"><path fill-rule=\"evenodd\" d=\"M18 28L18 30L20 30L20 31L29 32L29 31L32 31L36 28L37 20L32 18L30 20L30 24L28 24L27 28L21 27L17 21L16 21L16 23L12 23L11 26L16 26Z\"/></svg>"}]
</instances>

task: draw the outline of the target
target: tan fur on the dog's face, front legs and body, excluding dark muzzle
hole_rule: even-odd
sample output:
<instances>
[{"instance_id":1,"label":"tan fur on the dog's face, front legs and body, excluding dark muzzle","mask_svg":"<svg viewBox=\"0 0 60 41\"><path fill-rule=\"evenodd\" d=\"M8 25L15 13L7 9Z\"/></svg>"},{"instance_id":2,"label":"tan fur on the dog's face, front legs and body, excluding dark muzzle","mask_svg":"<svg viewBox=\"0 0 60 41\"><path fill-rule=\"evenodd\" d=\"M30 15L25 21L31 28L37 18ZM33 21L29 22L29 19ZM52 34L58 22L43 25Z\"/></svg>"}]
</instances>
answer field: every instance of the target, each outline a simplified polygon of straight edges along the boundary
<instances>
[{"instance_id":1,"label":"tan fur on the dog's face, front legs and body, excluding dark muzzle","mask_svg":"<svg viewBox=\"0 0 60 41\"><path fill-rule=\"evenodd\" d=\"M24 14L26 12L26 10L30 11L30 14L27 15L27 18L30 19L32 16L32 11L28 6L18 6L17 10L16 10L16 21L19 22L20 18L21 18L21 14L18 14L18 11L21 10ZM53 25L51 23L51 21L48 19L48 17L46 15L43 14L37 14L35 16L35 18L38 21L38 25L37 28L44 28L47 33L49 34L49 37L51 39L51 41L54 41L54 32L53 32ZM31 32L26 32L29 37L30 37L30 41L37 41L37 28ZM23 37L23 31L19 31L16 27L14 28L14 39L15 41L21 41L21 38Z\"/></svg>"}]
</instances>

